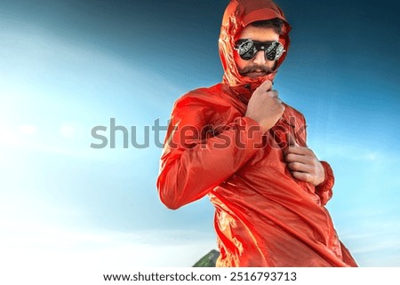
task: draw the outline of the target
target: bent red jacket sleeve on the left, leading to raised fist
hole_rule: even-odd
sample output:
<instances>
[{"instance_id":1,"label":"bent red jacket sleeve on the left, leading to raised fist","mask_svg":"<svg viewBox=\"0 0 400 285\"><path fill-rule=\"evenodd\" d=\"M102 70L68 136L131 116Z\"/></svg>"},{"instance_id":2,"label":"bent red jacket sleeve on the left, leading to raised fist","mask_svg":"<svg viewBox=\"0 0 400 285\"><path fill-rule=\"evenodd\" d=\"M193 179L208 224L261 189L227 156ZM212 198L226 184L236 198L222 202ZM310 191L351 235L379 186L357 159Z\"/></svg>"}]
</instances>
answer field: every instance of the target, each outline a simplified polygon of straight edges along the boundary
<instances>
[{"instance_id":1,"label":"bent red jacket sleeve on the left, leading to raised fist","mask_svg":"<svg viewBox=\"0 0 400 285\"><path fill-rule=\"evenodd\" d=\"M183 97L172 108L156 186L175 210L208 194L241 168L261 145L260 124L237 116L218 134L208 127L214 107Z\"/></svg>"}]
</instances>

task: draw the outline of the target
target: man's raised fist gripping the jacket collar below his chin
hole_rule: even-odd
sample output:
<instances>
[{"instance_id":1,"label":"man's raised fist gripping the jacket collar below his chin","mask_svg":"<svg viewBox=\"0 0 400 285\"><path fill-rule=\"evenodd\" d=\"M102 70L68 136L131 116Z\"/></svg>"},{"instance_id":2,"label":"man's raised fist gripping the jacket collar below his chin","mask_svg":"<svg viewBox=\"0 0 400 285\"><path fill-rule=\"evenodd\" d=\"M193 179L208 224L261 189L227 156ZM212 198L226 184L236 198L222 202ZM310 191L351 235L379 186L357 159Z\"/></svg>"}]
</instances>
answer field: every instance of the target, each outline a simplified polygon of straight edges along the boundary
<instances>
[{"instance_id":1,"label":"man's raised fist gripping the jacket collar below his chin","mask_svg":"<svg viewBox=\"0 0 400 285\"><path fill-rule=\"evenodd\" d=\"M277 91L272 91L272 82L262 83L252 93L245 116L260 123L263 132L271 129L284 114L284 105Z\"/></svg>"}]
</instances>

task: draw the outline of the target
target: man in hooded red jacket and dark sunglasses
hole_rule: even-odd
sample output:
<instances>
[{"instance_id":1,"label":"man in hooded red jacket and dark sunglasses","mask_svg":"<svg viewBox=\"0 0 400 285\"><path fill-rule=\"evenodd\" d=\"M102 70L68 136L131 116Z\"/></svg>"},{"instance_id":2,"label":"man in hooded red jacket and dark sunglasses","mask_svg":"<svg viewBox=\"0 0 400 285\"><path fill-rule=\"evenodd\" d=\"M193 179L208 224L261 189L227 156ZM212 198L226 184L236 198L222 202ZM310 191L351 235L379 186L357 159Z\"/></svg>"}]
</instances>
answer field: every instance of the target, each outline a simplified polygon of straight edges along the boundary
<instances>
[{"instance_id":1,"label":"man in hooded red jacket and dark sunglasses","mask_svg":"<svg viewBox=\"0 0 400 285\"><path fill-rule=\"evenodd\" d=\"M222 83L172 109L160 199L178 209L210 196L217 266L356 266L324 208L332 170L306 146L303 115L272 90L290 29L272 1L232 0L220 31Z\"/></svg>"}]
</instances>

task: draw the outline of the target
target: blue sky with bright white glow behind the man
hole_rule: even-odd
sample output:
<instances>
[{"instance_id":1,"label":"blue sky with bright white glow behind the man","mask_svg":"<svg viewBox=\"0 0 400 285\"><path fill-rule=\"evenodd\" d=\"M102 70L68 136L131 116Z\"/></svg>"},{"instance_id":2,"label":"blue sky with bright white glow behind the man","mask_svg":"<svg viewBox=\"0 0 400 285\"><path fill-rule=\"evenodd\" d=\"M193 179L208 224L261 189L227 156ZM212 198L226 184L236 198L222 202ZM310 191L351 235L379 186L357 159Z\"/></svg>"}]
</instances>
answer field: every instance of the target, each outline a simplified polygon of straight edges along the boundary
<instances>
[{"instance_id":1,"label":"blue sky with bright white glow behind the man","mask_svg":"<svg viewBox=\"0 0 400 285\"><path fill-rule=\"evenodd\" d=\"M0 241L10 268L190 266L216 248L207 198L176 211L159 202L160 148L124 149L121 134L115 149L90 146L110 118L140 141L180 95L220 82L227 3L0 1ZM278 1L292 46L275 88L332 164L340 239L362 266L399 266L395 1L299 3Z\"/></svg>"}]
</instances>

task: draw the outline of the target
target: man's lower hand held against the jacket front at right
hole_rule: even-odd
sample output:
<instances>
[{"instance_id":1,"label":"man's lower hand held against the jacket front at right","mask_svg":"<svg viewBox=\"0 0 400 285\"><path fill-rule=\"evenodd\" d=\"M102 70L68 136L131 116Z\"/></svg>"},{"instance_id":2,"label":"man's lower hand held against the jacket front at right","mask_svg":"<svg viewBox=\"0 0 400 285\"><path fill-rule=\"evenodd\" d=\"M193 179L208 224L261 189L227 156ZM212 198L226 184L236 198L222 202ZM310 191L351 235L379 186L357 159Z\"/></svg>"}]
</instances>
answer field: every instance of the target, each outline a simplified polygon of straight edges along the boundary
<instances>
[{"instance_id":1,"label":"man's lower hand held against the jacket front at right","mask_svg":"<svg viewBox=\"0 0 400 285\"><path fill-rule=\"evenodd\" d=\"M321 162L316 158L316 154L308 147L299 146L292 134L289 133L288 147L284 150L284 160L293 178L306 181L314 186L318 186L325 180L325 170Z\"/></svg>"}]
</instances>

